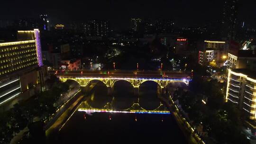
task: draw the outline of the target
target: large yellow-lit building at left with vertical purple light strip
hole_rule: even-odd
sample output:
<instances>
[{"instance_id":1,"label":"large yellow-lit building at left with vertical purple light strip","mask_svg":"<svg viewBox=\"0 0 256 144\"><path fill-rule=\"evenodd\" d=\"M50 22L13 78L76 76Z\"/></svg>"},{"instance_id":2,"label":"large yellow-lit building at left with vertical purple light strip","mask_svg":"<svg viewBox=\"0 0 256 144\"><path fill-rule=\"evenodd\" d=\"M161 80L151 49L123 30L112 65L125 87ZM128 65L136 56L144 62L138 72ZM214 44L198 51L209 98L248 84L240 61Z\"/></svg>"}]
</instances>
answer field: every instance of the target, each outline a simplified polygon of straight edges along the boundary
<instances>
[{"instance_id":1,"label":"large yellow-lit building at left with vertical purple light strip","mask_svg":"<svg viewBox=\"0 0 256 144\"><path fill-rule=\"evenodd\" d=\"M40 83L35 72L29 77L43 66L39 30L18 31L17 37L18 41L0 43L0 105Z\"/></svg>"}]
</instances>

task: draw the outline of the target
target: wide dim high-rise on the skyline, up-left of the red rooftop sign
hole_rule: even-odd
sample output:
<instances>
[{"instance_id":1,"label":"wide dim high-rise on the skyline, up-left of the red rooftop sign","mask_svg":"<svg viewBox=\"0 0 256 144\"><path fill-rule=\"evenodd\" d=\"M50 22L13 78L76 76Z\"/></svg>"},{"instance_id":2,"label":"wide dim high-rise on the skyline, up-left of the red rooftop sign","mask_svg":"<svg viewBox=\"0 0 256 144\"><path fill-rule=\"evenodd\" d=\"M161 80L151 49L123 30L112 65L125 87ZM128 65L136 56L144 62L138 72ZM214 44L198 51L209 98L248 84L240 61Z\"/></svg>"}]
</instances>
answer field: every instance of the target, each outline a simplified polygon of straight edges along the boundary
<instances>
[{"instance_id":1,"label":"wide dim high-rise on the skyline, up-left of the red rooftop sign","mask_svg":"<svg viewBox=\"0 0 256 144\"><path fill-rule=\"evenodd\" d=\"M159 18L155 21L155 30L157 33L173 33L174 22L171 19Z\"/></svg>"}]
</instances>

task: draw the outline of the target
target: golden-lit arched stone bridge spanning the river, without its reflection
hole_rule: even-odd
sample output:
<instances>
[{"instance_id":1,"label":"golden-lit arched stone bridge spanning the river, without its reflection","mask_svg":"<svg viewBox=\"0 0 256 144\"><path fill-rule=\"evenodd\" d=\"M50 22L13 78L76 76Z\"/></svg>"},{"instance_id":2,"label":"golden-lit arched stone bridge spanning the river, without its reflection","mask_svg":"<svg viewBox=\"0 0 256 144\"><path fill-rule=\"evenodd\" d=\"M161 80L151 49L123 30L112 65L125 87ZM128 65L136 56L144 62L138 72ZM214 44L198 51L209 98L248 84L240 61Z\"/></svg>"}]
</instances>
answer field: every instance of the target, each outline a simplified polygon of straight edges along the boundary
<instances>
[{"instance_id":1,"label":"golden-lit arched stone bridge spanning the river, without its reflection","mask_svg":"<svg viewBox=\"0 0 256 144\"><path fill-rule=\"evenodd\" d=\"M145 81L154 81L163 89L172 82L184 82L188 85L191 81L190 74L164 71L58 71L56 74L61 81L77 81L82 87L86 87L92 80L99 80L111 88L116 81L123 80L130 82L134 88L138 88Z\"/></svg>"}]
</instances>

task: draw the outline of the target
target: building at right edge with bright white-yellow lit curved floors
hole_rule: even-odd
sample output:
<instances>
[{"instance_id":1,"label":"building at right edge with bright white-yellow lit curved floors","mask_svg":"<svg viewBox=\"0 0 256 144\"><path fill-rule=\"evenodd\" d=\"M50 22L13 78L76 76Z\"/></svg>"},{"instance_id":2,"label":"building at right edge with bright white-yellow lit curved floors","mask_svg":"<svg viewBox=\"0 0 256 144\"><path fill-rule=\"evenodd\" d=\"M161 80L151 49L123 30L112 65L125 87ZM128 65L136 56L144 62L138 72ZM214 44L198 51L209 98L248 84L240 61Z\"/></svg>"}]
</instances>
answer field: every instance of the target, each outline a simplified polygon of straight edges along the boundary
<instances>
[{"instance_id":1,"label":"building at right edge with bright white-yellow lit curved floors","mask_svg":"<svg viewBox=\"0 0 256 144\"><path fill-rule=\"evenodd\" d=\"M248 118L247 123L256 126L256 72L248 69L229 69L226 101L237 105Z\"/></svg>"}]
</instances>

